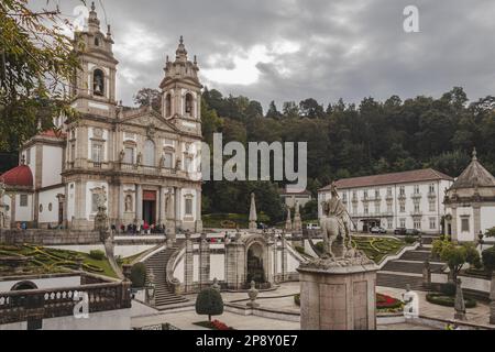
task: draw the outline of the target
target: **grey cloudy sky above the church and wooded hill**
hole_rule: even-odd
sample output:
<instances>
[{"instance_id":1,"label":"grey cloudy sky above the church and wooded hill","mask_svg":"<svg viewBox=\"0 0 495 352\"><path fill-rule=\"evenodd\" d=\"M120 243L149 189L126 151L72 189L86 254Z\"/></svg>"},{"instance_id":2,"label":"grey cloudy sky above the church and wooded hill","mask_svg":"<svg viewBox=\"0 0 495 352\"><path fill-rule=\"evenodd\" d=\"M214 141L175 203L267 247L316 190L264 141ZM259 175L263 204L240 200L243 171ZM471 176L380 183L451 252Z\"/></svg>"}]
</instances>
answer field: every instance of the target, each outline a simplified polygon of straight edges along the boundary
<instances>
[{"instance_id":1,"label":"grey cloudy sky above the church and wooded hill","mask_svg":"<svg viewBox=\"0 0 495 352\"><path fill-rule=\"evenodd\" d=\"M73 15L80 0L51 0ZM32 0L46 3L46 0ZM90 1L88 1L90 2ZM419 9L419 33L403 28ZM179 35L201 79L264 107L312 97L359 102L432 95L462 86L495 95L493 0L101 0L120 61L119 99L157 87ZM105 11L103 11L105 8Z\"/></svg>"}]
</instances>

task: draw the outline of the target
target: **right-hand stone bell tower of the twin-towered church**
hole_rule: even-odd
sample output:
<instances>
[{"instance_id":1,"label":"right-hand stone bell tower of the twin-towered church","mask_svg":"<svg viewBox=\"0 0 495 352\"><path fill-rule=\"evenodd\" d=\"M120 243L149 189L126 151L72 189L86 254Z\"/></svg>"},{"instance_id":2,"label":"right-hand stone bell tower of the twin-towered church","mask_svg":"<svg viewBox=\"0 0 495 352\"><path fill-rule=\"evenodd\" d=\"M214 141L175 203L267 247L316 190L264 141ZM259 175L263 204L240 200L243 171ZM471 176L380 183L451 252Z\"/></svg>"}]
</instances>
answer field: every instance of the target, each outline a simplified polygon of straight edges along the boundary
<instances>
[{"instance_id":1,"label":"right-hand stone bell tower of the twin-towered church","mask_svg":"<svg viewBox=\"0 0 495 352\"><path fill-rule=\"evenodd\" d=\"M184 38L175 52L175 61L168 56L164 67L165 78L162 80L162 114L177 129L201 134L201 84L198 78L198 64L187 58Z\"/></svg>"}]
</instances>

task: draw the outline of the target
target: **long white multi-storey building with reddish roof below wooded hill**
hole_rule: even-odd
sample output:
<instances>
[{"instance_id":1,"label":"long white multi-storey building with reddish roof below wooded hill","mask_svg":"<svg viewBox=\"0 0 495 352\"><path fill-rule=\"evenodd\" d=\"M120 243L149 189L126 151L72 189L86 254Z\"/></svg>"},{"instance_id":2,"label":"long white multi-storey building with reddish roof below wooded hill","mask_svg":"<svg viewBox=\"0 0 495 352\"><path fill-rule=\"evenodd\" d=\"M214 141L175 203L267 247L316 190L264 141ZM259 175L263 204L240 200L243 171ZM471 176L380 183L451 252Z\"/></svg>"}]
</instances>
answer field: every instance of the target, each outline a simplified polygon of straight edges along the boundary
<instances>
[{"instance_id":1,"label":"long white multi-storey building with reddish roof below wooded hill","mask_svg":"<svg viewBox=\"0 0 495 352\"><path fill-rule=\"evenodd\" d=\"M336 182L358 231L373 227L387 231L396 228L440 233L444 213L443 195L453 178L432 168L402 173L343 178ZM318 217L321 202L331 198L330 185L318 191Z\"/></svg>"}]
</instances>

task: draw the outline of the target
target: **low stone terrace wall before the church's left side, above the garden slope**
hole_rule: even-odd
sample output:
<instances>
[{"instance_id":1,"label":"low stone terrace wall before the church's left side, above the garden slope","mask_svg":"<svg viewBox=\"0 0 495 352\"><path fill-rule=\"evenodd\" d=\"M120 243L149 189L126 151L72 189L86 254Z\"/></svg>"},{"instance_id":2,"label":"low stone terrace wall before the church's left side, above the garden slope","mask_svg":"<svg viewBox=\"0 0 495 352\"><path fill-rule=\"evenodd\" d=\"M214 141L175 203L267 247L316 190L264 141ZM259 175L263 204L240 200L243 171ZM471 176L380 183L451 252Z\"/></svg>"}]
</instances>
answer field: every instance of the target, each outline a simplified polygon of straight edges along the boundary
<instances>
[{"instance_id":1,"label":"low stone terrace wall before the church's left side, above the garden slope","mask_svg":"<svg viewBox=\"0 0 495 352\"><path fill-rule=\"evenodd\" d=\"M0 243L22 244L36 243L42 245L55 244L96 244L100 243L100 235L94 231L72 230L1 230Z\"/></svg>"}]
</instances>

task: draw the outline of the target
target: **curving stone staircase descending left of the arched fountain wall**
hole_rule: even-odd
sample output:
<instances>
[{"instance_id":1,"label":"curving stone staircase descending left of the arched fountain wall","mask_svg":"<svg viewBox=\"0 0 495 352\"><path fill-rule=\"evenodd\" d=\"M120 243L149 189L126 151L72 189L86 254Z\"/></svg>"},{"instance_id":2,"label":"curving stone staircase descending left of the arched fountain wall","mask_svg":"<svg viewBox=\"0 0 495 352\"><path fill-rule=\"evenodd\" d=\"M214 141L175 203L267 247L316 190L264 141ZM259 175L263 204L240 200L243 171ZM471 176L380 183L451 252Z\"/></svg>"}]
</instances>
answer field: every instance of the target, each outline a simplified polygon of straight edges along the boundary
<instances>
[{"instance_id":1,"label":"curving stone staircase descending left of the arched fountain wall","mask_svg":"<svg viewBox=\"0 0 495 352\"><path fill-rule=\"evenodd\" d=\"M185 297L176 295L167 283L167 263L177 250L177 246L166 248L144 261L147 275L151 271L155 275L155 307L157 309L187 301Z\"/></svg>"}]
</instances>

